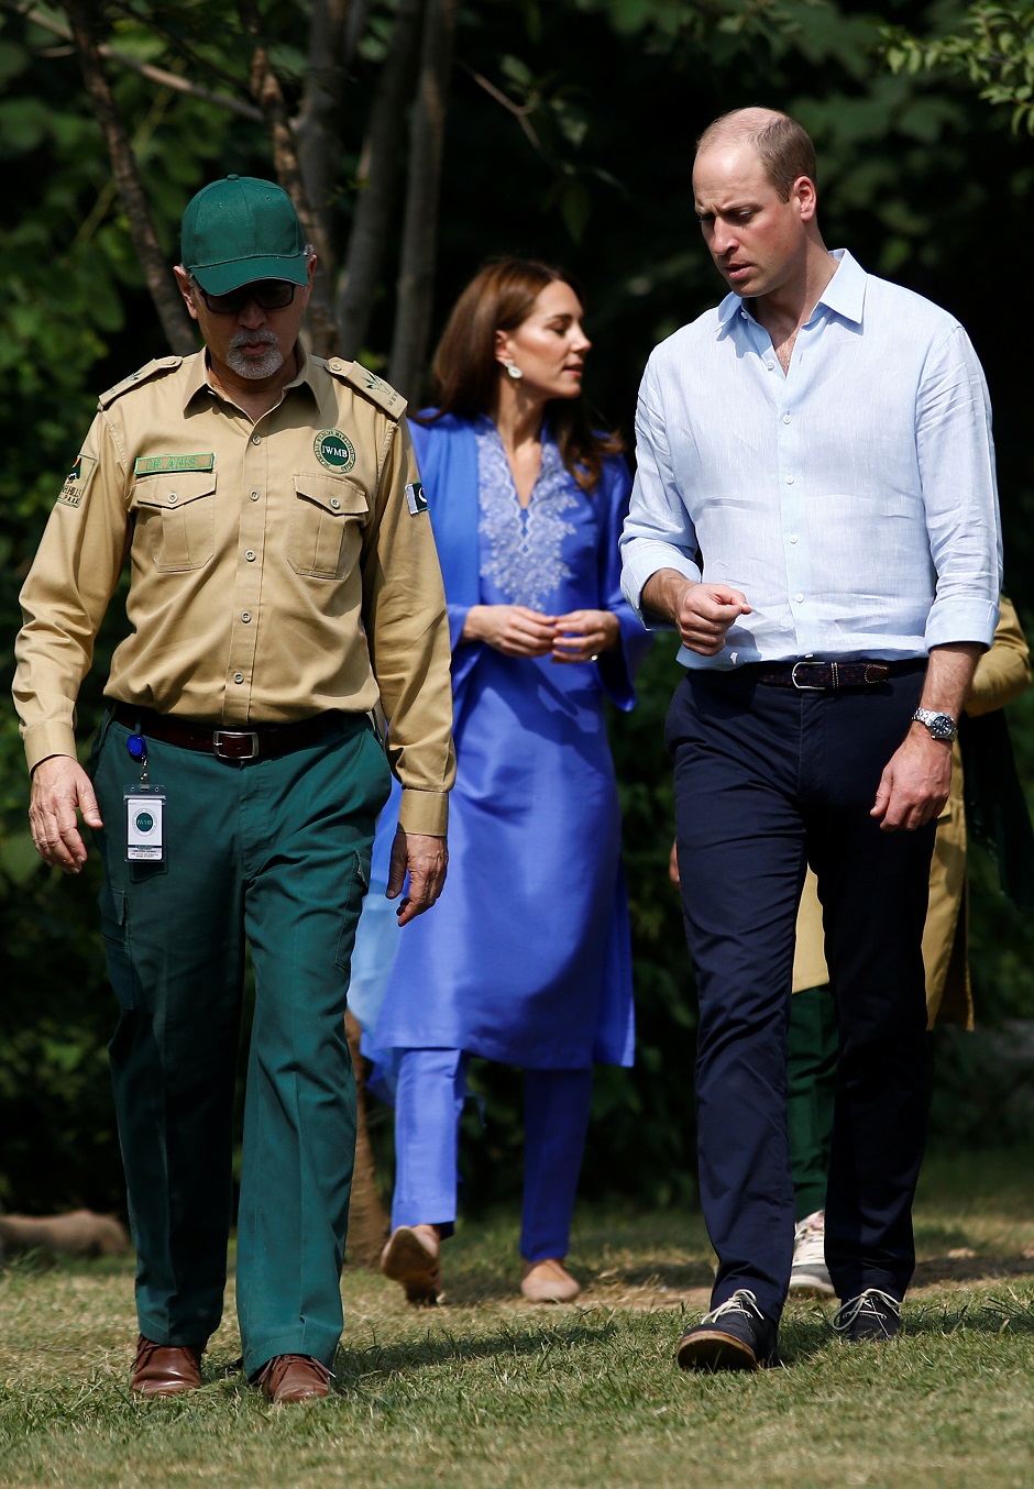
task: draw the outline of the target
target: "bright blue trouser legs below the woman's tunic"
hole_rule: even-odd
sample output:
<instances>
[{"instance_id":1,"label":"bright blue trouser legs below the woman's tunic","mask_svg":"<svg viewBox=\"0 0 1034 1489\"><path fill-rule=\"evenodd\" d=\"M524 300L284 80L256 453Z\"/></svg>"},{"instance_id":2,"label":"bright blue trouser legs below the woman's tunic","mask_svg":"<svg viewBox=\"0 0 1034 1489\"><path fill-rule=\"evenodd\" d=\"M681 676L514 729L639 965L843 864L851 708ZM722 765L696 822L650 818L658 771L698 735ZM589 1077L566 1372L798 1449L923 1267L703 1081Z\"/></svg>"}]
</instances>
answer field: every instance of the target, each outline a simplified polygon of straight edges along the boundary
<instances>
[{"instance_id":1,"label":"bright blue trouser legs below the woman's tunic","mask_svg":"<svg viewBox=\"0 0 1034 1489\"><path fill-rule=\"evenodd\" d=\"M392 1225L453 1233L466 1063L462 1050L407 1050L401 1057ZM568 1254L591 1085L591 1069L524 1071L524 1261Z\"/></svg>"}]
</instances>

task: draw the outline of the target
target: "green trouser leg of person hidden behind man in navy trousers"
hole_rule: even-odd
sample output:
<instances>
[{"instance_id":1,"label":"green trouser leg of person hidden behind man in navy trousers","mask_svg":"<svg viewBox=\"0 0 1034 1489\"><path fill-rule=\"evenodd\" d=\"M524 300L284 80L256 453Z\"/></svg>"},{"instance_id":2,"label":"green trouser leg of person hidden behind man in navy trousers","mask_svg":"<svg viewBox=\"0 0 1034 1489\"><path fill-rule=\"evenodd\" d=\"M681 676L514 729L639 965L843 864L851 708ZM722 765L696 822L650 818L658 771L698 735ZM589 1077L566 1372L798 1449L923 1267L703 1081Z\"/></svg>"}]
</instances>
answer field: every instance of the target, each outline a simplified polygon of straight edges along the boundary
<instances>
[{"instance_id":1,"label":"green trouser leg of person hidden behind man in navy trousers","mask_svg":"<svg viewBox=\"0 0 1034 1489\"><path fill-rule=\"evenodd\" d=\"M828 986L794 993L787 1036L787 1126L799 1221L825 1208L839 1045Z\"/></svg>"}]
</instances>

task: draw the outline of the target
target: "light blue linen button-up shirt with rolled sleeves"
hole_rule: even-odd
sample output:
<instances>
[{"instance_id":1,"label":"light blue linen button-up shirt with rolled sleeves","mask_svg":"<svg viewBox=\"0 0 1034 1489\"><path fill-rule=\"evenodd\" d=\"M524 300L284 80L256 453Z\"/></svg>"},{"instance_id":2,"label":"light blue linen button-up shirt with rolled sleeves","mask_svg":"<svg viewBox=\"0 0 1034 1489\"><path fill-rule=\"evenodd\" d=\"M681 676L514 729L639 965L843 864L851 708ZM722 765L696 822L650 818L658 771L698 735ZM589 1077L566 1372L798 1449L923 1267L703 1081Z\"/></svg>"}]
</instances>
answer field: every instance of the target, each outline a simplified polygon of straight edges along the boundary
<instances>
[{"instance_id":1,"label":"light blue linen button-up shirt with rolled sleeves","mask_svg":"<svg viewBox=\"0 0 1034 1489\"><path fill-rule=\"evenodd\" d=\"M645 625L660 569L733 585L751 613L694 669L924 657L991 645L1001 539L991 408L965 331L845 250L784 374L748 304L650 357L621 587Z\"/></svg>"}]
</instances>

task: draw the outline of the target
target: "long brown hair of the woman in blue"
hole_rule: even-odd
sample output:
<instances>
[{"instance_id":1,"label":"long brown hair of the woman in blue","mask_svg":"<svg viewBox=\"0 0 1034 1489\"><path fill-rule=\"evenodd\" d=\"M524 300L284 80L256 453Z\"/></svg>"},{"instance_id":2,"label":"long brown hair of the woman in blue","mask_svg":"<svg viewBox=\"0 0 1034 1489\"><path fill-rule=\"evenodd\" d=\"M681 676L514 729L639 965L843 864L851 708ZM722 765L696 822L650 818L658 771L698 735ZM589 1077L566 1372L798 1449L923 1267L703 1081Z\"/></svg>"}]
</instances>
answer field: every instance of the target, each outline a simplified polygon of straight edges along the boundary
<instances>
[{"instance_id":1,"label":"long brown hair of the woman in blue","mask_svg":"<svg viewBox=\"0 0 1034 1489\"><path fill-rule=\"evenodd\" d=\"M474 275L456 301L431 363L437 412L475 418L496 399L502 368L496 360L496 331L516 331L532 313L547 284L569 284L584 304L578 281L565 270L535 259L496 259ZM603 457L620 454L621 436L597 433L583 395L556 398L547 405L550 429L565 466L584 491L599 484Z\"/></svg>"}]
</instances>

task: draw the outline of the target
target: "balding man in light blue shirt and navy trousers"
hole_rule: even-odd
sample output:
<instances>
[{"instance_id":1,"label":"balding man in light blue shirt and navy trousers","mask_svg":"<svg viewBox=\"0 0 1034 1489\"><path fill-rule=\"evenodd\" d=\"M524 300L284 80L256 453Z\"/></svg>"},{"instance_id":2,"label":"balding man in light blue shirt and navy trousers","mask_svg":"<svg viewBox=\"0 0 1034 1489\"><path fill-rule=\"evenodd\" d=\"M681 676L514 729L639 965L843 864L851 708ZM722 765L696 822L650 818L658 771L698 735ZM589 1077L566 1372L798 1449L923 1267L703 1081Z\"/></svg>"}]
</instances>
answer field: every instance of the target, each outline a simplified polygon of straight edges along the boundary
<instances>
[{"instance_id":1,"label":"balding man in light blue shirt and navy trousers","mask_svg":"<svg viewBox=\"0 0 1034 1489\"><path fill-rule=\"evenodd\" d=\"M623 585L682 642L667 719L718 1254L684 1368L773 1362L793 1255L785 1039L811 861L840 1024L825 1255L851 1340L915 1266L921 940L951 742L1001 585L991 415L962 328L830 253L815 153L767 109L693 171L732 293L653 353Z\"/></svg>"}]
</instances>

